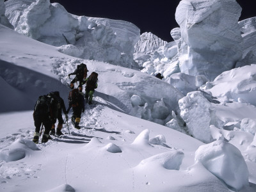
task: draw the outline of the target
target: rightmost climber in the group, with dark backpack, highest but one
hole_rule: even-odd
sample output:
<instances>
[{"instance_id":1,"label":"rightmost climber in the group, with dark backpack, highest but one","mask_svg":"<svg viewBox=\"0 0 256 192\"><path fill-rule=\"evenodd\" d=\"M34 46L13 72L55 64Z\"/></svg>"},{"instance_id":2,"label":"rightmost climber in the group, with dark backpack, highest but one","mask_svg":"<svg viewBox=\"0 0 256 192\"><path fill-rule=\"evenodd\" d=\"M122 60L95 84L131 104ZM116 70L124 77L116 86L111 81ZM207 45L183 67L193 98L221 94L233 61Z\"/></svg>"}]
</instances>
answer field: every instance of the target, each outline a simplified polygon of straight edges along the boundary
<instances>
[{"instance_id":1,"label":"rightmost climber in the group, with dark backpack, highest but one","mask_svg":"<svg viewBox=\"0 0 256 192\"><path fill-rule=\"evenodd\" d=\"M90 76L84 81L85 86L85 99L88 104L92 104L93 93L95 88L98 87L98 74L97 72L92 72Z\"/></svg>"}]
</instances>

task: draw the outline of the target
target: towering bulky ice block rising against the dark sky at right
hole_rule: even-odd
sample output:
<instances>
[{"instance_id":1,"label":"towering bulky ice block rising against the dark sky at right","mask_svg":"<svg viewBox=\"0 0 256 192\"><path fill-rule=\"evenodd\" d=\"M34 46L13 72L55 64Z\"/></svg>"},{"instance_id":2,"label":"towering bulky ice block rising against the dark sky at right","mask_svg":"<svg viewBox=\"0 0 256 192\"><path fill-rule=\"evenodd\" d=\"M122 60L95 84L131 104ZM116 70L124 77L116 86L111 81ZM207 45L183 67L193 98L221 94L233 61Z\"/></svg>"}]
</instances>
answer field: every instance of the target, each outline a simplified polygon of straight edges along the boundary
<instances>
[{"instance_id":1,"label":"towering bulky ice block rising against the dark sky at right","mask_svg":"<svg viewBox=\"0 0 256 192\"><path fill-rule=\"evenodd\" d=\"M183 0L175 19L180 26L180 71L211 81L242 56L241 7L235 0Z\"/></svg>"}]
</instances>

